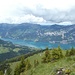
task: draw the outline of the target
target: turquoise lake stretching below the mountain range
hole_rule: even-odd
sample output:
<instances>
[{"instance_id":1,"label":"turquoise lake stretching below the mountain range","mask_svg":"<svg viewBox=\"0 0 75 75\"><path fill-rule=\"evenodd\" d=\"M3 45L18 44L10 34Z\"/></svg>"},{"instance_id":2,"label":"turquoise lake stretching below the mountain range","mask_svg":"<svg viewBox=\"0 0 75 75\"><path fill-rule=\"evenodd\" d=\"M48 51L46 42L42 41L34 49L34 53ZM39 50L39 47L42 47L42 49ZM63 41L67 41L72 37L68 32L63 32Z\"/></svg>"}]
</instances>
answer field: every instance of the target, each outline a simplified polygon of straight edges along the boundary
<instances>
[{"instance_id":1,"label":"turquoise lake stretching below the mountain range","mask_svg":"<svg viewBox=\"0 0 75 75\"><path fill-rule=\"evenodd\" d=\"M71 44L62 44L62 43L51 43L51 42L39 42L39 41L29 41L29 40L21 40L21 39L9 39L9 38L1 38L2 40L5 41L10 41L13 44L18 44L22 46L28 46L28 47L34 47L34 48L39 48L39 49L45 49L46 47L49 48L57 48L59 45L61 46L62 49L70 49L74 46L74 43Z\"/></svg>"}]
</instances>

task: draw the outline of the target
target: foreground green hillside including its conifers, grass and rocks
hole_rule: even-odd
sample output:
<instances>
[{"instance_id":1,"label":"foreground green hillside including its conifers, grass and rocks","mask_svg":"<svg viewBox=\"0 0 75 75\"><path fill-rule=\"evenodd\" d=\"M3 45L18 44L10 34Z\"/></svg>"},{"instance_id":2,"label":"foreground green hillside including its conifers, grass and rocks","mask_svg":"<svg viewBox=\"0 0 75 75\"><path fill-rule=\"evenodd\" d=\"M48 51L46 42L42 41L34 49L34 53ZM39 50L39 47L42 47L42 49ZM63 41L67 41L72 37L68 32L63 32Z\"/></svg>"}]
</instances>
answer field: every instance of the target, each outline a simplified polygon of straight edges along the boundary
<instances>
[{"instance_id":1,"label":"foreground green hillside including its conifers, grass and rocks","mask_svg":"<svg viewBox=\"0 0 75 75\"><path fill-rule=\"evenodd\" d=\"M9 65L11 71L7 71L7 75L75 75L75 49L46 48L27 58L22 56L20 61L9 62Z\"/></svg>"}]
</instances>

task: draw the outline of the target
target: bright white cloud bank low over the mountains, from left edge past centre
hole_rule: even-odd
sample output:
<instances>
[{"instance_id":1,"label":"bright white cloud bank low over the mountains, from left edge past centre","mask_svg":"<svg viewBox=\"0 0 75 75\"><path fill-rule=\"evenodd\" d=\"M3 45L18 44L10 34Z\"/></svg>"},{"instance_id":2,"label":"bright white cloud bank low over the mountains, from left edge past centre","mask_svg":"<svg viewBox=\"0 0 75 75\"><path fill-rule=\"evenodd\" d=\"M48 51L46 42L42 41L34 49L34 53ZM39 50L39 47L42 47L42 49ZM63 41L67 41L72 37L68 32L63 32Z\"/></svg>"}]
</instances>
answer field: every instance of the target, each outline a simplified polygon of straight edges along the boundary
<instances>
[{"instance_id":1,"label":"bright white cloud bank low over the mountains, from left edge past centre","mask_svg":"<svg viewBox=\"0 0 75 75\"><path fill-rule=\"evenodd\" d=\"M12 17L6 17L6 18L0 18L0 23L45 23L46 20L44 20L42 17L35 17L33 15L23 15L21 17L19 16L12 16Z\"/></svg>"}]
</instances>

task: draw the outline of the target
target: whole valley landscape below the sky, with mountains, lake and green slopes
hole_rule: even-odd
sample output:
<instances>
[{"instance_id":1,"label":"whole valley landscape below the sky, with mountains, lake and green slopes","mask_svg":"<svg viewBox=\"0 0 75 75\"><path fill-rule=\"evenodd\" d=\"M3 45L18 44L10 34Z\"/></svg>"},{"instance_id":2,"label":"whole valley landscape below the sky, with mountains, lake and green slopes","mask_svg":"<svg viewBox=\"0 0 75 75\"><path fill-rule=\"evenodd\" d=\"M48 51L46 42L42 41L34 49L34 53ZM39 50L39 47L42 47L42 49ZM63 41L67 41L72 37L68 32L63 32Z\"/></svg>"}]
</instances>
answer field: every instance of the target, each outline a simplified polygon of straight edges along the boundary
<instances>
[{"instance_id":1,"label":"whole valley landscape below the sky, with mountains, lake and green slopes","mask_svg":"<svg viewBox=\"0 0 75 75\"><path fill-rule=\"evenodd\" d=\"M74 25L0 24L0 75L75 75L74 34Z\"/></svg>"}]
</instances>

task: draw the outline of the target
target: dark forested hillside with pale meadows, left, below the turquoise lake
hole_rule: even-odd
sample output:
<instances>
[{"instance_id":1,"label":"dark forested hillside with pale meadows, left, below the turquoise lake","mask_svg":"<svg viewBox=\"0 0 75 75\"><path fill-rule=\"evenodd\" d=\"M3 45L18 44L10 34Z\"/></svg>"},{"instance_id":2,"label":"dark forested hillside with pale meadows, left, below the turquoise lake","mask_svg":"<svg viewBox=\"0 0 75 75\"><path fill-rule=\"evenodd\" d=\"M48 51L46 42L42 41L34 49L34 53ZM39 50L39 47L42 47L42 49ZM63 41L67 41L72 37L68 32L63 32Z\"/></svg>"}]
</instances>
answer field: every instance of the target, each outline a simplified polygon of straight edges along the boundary
<instances>
[{"instance_id":1,"label":"dark forested hillside with pale meadows, left, below the turquoise lake","mask_svg":"<svg viewBox=\"0 0 75 75\"><path fill-rule=\"evenodd\" d=\"M21 45L14 45L12 42L3 41L0 39L0 61L4 61L9 58L34 52L37 50L40 49Z\"/></svg>"}]
</instances>

